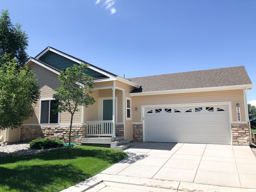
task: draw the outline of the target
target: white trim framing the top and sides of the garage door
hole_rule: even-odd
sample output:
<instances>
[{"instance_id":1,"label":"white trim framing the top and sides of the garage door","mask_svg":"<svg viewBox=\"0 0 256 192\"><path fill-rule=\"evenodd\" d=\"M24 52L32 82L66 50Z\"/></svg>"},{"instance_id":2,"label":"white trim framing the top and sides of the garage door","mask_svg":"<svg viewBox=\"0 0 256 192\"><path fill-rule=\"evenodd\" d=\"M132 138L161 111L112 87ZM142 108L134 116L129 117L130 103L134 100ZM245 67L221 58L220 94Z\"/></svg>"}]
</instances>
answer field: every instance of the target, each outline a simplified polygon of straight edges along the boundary
<instances>
[{"instance_id":1,"label":"white trim framing the top and sides of the garage door","mask_svg":"<svg viewBox=\"0 0 256 192\"><path fill-rule=\"evenodd\" d=\"M144 120L144 111L146 108L151 107L185 107L185 106L209 106L209 105L228 105L229 107L229 124L230 124L230 137L231 137L231 145L232 145L232 130L231 123L233 123L232 119L232 109L231 109L231 101L223 101L223 102L209 102L209 103L179 103L179 104L162 104L162 105L141 105L141 119L142 119L142 132L143 132L143 142L145 142L145 120ZM232 121L231 121L232 120ZM241 123L241 122L240 122Z\"/></svg>"}]
</instances>

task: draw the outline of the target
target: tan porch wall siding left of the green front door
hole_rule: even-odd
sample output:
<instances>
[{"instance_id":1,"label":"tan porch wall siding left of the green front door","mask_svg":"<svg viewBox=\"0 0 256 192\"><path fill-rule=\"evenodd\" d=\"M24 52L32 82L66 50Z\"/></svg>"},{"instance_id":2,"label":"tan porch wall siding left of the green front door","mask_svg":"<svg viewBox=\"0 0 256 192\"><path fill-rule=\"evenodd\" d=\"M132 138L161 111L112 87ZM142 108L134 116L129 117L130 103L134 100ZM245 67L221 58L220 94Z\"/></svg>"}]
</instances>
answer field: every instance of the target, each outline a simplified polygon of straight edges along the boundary
<instances>
[{"instance_id":1,"label":"tan porch wall siding left of the green front door","mask_svg":"<svg viewBox=\"0 0 256 192\"><path fill-rule=\"evenodd\" d=\"M93 93L90 94L95 99L95 103L93 105L89 105L85 107L84 110L84 123L86 121L97 121L98 119L98 103L99 103L99 90L93 90Z\"/></svg>"}]
</instances>

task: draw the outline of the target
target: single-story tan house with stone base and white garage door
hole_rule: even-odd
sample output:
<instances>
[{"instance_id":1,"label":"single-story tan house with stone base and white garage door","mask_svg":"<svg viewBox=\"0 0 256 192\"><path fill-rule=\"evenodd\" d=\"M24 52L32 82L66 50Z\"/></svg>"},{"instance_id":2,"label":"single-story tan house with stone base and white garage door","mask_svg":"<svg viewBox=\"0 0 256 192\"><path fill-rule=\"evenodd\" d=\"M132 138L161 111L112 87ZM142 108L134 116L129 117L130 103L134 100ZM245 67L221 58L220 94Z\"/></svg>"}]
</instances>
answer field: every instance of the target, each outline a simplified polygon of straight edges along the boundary
<instances>
[{"instance_id":1,"label":"single-story tan house with stone base and white garage door","mask_svg":"<svg viewBox=\"0 0 256 192\"><path fill-rule=\"evenodd\" d=\"M68 138L70 115L51 112L53 89L61 85L61 69L81 62L52 47L29 58L41 99L19 140ZM250 145L247 90L253 85L244 66L125 79L89 65L96 102L75 113L72 142L122 136L128 142Z\"/></svg>"}]
</instances>

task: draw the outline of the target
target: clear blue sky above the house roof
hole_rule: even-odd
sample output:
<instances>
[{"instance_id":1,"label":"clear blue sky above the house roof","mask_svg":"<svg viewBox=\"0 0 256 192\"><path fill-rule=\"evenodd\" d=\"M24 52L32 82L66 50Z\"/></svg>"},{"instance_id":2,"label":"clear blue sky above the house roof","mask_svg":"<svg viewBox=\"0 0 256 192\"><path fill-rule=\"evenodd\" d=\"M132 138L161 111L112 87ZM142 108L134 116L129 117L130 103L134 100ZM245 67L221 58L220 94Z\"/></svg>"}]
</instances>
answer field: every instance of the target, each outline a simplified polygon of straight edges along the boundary
<instances>
[{"instance_id":1,"label":"clear blue sky above the house roof","mask_svg":"<svg viewBox=\"0 0 256 192\"><path fill-rule=\"evenodd\" d=\"M0 8L23 25L29 56L51 46L126 78L244 65L256 82L256 1L96 2L2 0Z\"/></svg>"}]
</instances>

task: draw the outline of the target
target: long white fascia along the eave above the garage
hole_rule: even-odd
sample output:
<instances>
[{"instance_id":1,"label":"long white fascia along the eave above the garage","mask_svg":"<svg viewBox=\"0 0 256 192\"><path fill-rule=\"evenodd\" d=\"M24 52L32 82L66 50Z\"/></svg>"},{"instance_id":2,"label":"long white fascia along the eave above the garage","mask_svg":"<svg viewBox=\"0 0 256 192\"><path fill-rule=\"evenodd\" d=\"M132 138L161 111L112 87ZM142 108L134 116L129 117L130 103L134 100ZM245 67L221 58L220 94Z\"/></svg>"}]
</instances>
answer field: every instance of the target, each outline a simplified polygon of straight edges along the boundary
<instances>
[{"instance_id":1,"label":"long white fascia along the eave above the garage","mask_svg":"<svg viewBox=\"0 0 256 192\"><path fill-rule=\"evenodd\" d=\"M223 87L205 87L205 88L195 88L195 89L176 89L176 90L164 90L164 91L148 91L142 93L130 93L130 96L143 96L143 95L162 95L162 94L174 94L174 93L194 93L194 92L205 92L205 91L225 91L234 89L248 89L253 87L250 85L233 85L233 86L223 86Z\"/></svg>"}]
</instances>

